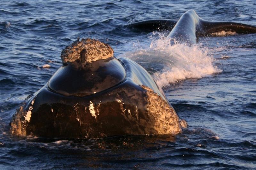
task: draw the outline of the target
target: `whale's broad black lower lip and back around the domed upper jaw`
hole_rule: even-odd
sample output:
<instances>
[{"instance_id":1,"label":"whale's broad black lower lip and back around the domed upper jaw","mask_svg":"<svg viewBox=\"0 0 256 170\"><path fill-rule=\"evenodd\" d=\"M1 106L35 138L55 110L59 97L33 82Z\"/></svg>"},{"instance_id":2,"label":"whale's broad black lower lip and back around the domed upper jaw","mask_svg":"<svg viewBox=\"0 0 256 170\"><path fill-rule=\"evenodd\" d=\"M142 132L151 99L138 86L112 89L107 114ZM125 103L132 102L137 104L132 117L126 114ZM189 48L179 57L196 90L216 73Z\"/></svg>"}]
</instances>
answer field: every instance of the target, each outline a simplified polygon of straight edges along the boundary
<instances>
[{"instance_id":1,"label":"whale's broad black lower lip and back around the domed upper jaw","mask_svg":"<svg viewBox=\"0 0 256 170\"><path fill-rule=\"evenodd\" d=\"M121 72L121 80L125 70L123 80L92 94L88 93L89 88L85 89L84 96L65 95L49 88L49 84L56 86L51 81L57 82L58 70L17 111L11 123L12 133L60 138L180 133L178 115L149 73L127 58L110 62L120 63L117 65L122 68L117 67L116 71ZM63 67L69 66L60 70ZM97 70L92 72L97 74Z\"/></svg>"}]
</instances>

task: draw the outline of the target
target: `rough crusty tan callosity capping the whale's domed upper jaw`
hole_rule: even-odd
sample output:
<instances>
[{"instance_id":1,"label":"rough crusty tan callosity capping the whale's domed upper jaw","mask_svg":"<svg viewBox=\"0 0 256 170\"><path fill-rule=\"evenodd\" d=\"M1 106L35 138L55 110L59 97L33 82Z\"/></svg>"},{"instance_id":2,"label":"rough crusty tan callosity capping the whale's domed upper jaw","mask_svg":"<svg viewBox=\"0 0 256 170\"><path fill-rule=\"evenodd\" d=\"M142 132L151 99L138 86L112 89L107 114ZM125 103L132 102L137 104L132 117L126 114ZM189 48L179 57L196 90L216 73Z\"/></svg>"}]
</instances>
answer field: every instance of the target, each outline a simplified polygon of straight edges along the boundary
<instances>
[{"instance_id":1,"label":"rough crusty tan callosity capping the whale's domed upper jaw","mask_svg":"<svg viewBox=\"0 0 256 170\"><path fill-rule=\"evenodd\" d=\"M113 57L113 49L103 42L95 39L79 39L67 46L61 52L61 60L65 65L67 63L92 63L101 59L108 59Z\"/></svg>"}]
</instances>

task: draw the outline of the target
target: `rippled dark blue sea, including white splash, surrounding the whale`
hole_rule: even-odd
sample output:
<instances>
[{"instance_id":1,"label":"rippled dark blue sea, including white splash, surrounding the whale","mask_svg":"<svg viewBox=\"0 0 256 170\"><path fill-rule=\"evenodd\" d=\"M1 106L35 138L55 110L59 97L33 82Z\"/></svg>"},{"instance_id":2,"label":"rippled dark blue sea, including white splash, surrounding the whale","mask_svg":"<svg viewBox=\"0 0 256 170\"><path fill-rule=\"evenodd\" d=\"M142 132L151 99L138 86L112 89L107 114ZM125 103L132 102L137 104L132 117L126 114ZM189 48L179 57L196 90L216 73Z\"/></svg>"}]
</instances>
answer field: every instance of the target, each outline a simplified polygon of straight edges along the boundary
<instances>
[{"instance_id":1,"label":"rippled dark blue sea, including white splash, surrounding the whale","mask_svg":"<svg viewBox=\"0 0 256 170\"><path fill-rule=\"evenodd\" d=\"M0 169L255 169L256 34L172 47L165 32L125 26L179 19L189 9L206 20L256 25L254 0L1 1ZM61 66L61 50L77 37L106 42L147 68L189 128L177 137L9 135L15 110Z\"/></svg>"}]
</instances>

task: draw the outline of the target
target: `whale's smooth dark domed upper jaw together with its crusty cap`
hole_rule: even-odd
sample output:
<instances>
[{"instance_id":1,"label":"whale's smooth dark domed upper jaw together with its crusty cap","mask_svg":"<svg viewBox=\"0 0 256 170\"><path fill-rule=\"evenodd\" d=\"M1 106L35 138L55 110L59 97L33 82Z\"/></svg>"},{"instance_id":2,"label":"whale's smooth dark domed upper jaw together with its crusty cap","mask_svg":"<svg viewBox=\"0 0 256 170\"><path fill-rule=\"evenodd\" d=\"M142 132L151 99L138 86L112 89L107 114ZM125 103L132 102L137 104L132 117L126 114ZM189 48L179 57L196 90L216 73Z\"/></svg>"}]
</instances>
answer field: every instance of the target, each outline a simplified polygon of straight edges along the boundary
<instances>
[{"instance_id":1,"label":"whale's smooth dark domed upper jaw together with its crusty cap","mask_svg":"<svg viewBox=\"0 0 256 170\"><path fill-rule=\"evenodd\" d=\"M94 39L77 40L62 50L62 67L48 87L65 96L87 96L104 91L125 78L123 65L113 49Z\"/></svg>"}]
</instances>

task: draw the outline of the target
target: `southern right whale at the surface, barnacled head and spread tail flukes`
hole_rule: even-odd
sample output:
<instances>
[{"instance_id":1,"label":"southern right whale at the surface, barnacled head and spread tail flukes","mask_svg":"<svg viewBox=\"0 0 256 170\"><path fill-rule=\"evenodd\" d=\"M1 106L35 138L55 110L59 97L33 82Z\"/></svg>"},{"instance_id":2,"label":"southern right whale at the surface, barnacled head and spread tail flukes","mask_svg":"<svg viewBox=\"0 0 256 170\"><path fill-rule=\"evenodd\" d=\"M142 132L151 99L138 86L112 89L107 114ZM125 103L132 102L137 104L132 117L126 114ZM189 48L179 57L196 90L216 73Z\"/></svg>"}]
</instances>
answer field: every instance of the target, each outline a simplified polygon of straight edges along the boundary
<instances>
[{"instance_id":1,"label":"southern right whale at the surface, barnacled head and spread tail flukes","mask_svg":"<svg viewBox=\"0 0 256 170\"><path fill-rule=\"evenodd\" d=\"M177 22L177 23L176 23ZM151 25L151 27L150 27ZM256 33L255 26L209 22L189 10L180 20L151 20L133 27L172 29L171 43L195 44L218 31ZM116 59L113 49L93 39L77 40L61 53L62 67L17 109L11 133L18 136L87 138L182 132L162 89L138 63Z\"/></svg>"}]
</instances>

